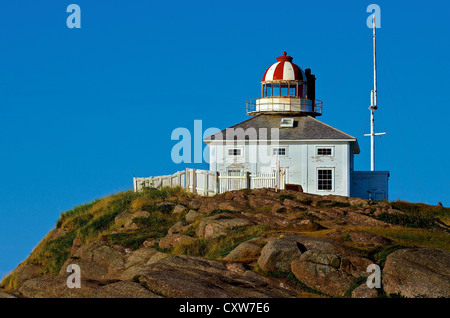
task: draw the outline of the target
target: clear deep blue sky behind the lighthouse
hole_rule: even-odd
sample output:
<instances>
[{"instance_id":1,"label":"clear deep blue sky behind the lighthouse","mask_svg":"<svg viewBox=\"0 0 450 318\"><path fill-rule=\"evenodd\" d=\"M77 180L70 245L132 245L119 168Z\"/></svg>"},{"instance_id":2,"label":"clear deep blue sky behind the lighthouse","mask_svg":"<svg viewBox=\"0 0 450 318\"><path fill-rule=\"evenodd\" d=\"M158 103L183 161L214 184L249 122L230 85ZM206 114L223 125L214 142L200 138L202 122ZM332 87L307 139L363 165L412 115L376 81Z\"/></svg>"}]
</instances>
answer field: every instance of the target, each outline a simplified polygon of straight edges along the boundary
<instances>
[{"instance_id":1,"label":"clear deep blue sky behind the lighthouse","mask_svg":"<svg viewBox=\"0 0 450 318\"><path fill-rule=\"evenodd\" d=\"M66 7L81 7L68 29ZM225 128L286 50L317 77L320 120L369 168L371 1L29 0L0 4L0 276L61 211L172 173L173 129ZM443 1L378 1L377 169L390 198L449 205L449 22ZM206 168L206 164L189 165Z\"/></svg>"}]
</instances>

